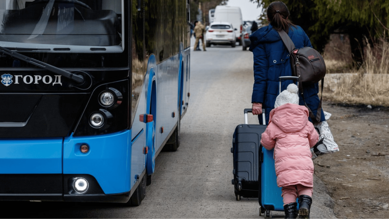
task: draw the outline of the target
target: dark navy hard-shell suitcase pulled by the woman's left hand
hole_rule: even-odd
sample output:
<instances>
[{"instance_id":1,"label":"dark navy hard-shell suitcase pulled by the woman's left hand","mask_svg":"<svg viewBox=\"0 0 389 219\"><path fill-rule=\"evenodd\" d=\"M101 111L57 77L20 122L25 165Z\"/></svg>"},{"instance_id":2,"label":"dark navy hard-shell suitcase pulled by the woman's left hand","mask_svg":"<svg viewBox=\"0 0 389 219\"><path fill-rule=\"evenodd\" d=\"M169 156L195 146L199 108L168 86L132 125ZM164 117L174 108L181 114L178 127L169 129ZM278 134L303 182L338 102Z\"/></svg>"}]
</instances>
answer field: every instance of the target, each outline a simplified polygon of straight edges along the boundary
<instances>
[{"instance_id":1,"label":"dark navy hard-shell suitcase pulled by the woman's left hand","mask_svg":"<svg viewBox=\"0 0 389 219\"><path fill-rule=\"evenodd\" d=\"M258 198L259 154L261 134L267 125L248 124L247 113L251 109L244 109L245 124L235 128L232 140L233 175L231 183L234 185L236 199L241 197ZM265 110L262 112L265 118Z\"/></svg>"}]
</instances>

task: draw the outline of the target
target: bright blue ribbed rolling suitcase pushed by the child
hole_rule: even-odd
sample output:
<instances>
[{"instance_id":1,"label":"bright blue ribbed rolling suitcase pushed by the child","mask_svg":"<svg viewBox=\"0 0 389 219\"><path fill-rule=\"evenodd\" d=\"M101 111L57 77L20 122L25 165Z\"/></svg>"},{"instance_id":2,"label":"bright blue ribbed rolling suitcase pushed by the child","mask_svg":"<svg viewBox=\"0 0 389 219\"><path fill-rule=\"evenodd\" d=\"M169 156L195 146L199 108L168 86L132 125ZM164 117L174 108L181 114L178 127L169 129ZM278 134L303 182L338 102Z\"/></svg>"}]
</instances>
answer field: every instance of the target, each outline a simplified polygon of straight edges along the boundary
<instances>
[{"instance_id":1,"label":"bright blue ribbed rolling suitcase pushed by the child","mask_svg":"<svg viewBox=\"0 0 389 219\"><path fill-rule=\"evenodd\" d=\"M298 83L298 77L280 77L279 92L281 92L282 80L294 80ZM281 187L277 186L277 176L274 167L274 149L266 150L260 145L260 169L259 176L261 183L258 190L258 201L261 208L259 215L264 214L265 219L272 218L271 211L284 211L284 202L281 197Z\"/></svg>"}]
</instances>

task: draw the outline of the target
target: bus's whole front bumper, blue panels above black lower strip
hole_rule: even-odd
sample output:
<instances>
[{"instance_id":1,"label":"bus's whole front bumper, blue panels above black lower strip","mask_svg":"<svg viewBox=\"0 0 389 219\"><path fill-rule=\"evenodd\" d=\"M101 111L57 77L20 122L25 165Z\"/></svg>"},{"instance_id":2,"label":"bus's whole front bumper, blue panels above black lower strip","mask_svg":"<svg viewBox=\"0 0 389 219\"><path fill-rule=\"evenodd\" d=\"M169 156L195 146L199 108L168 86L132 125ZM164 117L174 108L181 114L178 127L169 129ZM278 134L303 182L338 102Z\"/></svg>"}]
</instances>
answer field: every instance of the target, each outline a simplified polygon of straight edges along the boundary
<instances>
[{"instance_id":1,"label":"bus's whole front bumper, blue panels above black lower strip","mask_svg":"<svg viewBox=\"0 0 389 219\"><path fill-rule=\"evenodd\" d=\"M77 138L0 140L0 201L126 202L132 187L129 138L126 130ZM86 154L80 152L83 144L90 147ZM88 187L77 191L76 184Z\"/></svg>"}]
</instances>

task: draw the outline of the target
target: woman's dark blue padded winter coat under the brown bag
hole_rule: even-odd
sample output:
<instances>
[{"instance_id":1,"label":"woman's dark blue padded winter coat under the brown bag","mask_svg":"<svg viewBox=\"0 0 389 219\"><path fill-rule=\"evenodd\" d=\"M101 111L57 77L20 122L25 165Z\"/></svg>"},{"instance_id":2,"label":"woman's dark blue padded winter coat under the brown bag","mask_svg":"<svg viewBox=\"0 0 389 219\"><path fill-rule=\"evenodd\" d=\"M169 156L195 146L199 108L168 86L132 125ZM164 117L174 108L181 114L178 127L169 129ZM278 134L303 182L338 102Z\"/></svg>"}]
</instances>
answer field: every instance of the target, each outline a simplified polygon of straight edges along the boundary
<instances>
[{"instance_id":1,"label":"woman's dark blue padded winter coat under the brown bag","mask_svg":"<svg viewBox=\"0 0 389 219\"><path fill-rule=\"evenodd\" d=\"M300 26L291 26L288 35L296 48L312 47L307 34ZM266 124L268 124L270 111L274 108L275 99L279 94L279 77L292 75L289 52L277 30L273 29L270 24L251 34L250 40L249 50L254 55L254 86L251 102L262 103L262 108L265 109L266 113ZM293 81L283 81L281 91L285 90L290 83L293 83ZM316 116L317 106L320 103L317 95L319 93L319 83L304 85L303 92L305 102ZM299 104L304 105L301 95ZM258 118L262 123L261 115L258 115ZM310 118L309 120L312 122ZM322 112L320 121L324 120L324 113Z\"/></svg>"}]
</instances>

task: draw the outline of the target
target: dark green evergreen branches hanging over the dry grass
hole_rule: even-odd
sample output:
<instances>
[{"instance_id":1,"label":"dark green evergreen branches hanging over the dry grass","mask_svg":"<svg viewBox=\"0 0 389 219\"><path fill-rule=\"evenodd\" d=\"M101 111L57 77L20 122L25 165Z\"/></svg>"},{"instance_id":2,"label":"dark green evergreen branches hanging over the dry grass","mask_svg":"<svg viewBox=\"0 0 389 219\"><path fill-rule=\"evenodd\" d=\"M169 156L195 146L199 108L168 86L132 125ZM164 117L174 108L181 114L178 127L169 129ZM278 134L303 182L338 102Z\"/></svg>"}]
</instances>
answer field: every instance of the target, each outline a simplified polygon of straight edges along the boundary
<instances>
[{"instance_id":1,"label":"dark green evergreen branches hanging over the dry grass","mask_svg":"<svg viewBox=\"0 0 389 219\"><path fill-rule=\"evenodd\" d=\"M273 0L249 0L266 9ZM354 61L361 64L363 38L374 41L389 30L386 0L283 0L290 20L300 25L315 49L322 51L333 33L349 34ZM265 16L266 10L263 10Z\"/></svg>"}]
</instances>

